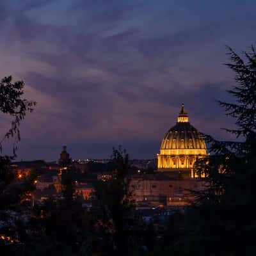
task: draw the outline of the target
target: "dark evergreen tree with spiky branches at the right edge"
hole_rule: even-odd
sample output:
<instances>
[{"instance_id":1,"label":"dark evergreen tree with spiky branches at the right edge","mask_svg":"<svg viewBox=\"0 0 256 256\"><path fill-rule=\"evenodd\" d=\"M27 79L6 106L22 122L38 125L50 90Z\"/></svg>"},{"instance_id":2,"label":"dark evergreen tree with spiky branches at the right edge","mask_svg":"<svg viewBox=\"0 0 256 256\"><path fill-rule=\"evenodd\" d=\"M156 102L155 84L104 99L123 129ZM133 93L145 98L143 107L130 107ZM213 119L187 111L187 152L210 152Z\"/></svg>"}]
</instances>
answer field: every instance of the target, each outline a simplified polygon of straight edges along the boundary
<instances>
[{"instance_id":1,"label":"dark evergreen tree with spiky branches at the right edge","mask_svg":"<svg viewBox=\"0 0 256 256\"><path fill-rule=\"evenodd\" d=\"M256 53L244 60L228 47L236 85L228 90L234 102L219 101L227 116L236 118L238 141L206 136L211 156L198 163L206 173L204 191L189 209L189 255L253 255L256 250Z\"/></svg>"}]
</instances>

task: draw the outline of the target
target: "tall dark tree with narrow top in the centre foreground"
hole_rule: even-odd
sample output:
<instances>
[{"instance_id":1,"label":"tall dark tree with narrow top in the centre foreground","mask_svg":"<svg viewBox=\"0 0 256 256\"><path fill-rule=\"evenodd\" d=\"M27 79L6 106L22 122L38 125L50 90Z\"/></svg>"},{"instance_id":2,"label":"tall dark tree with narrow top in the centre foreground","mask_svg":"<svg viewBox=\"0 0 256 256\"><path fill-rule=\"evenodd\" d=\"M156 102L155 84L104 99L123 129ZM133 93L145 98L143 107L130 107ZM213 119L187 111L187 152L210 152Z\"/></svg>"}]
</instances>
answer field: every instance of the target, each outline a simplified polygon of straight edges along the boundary
<instances>
[{"instance_id":1,"label":"tall dark tree with narrow top in the centre foreground","mask_svg":"<svg viewBox=\"0 0 256 256\"><path fill-rule=\"evenodd\" d=\"M135 207L129 190L130 166L125 150L113 148L111 164L111 178L96 185L93 211L105 240L106 253L128 255L136 247L135 226L138 220L134 216Z\"/></svg>"}]
</instances>

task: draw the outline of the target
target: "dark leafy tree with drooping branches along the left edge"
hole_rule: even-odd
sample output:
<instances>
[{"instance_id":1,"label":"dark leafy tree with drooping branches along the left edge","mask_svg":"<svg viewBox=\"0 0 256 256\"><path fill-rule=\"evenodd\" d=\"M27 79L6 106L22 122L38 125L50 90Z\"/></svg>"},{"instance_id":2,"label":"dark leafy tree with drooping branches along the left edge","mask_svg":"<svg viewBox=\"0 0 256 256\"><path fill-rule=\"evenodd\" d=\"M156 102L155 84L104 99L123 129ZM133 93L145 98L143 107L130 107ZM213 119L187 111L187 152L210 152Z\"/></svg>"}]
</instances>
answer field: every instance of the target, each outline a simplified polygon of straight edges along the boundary
<instances>
[{"instance_id":1,"label":"dark leafy tree with drooping branches along the left edge","mask_svg":"<svg viewBox=\"0 0 256 256\"><path fill-rule=\"evenodd\" d=\"M4 236L10 236L12 239L19 238L19 223L22 221L22 214L28 211L30 205L26 201L31 191L35 189L36 173L31 172L29 177L17 179L15 173L10 169L12 159L16 157L17 143L20 140L19 125L28 112L33 111L36 102L23 98L24 82L12 82L12 77L4 77L0 82L0 111L3 115L13 118L11 127L3 135L0 141L0 232ZM12 156L3 156L3 141L13 138ZM0 241L3 245L4 253L7 248L12 251L13 246L3 239ZM7 246L7 247L6 247ZM10 252L12 255L13 252Z\"/></svg>"}]
</instances>

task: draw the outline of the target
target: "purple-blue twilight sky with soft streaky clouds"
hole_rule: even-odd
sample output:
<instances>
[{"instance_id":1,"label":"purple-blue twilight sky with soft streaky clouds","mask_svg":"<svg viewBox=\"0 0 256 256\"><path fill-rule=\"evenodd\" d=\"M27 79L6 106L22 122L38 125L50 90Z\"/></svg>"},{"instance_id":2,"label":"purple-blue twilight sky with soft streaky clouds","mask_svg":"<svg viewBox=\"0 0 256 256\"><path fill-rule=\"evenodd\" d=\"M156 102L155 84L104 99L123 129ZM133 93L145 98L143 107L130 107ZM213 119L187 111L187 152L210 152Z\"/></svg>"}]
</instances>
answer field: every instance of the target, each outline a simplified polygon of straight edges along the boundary
<instances>
[{"instance_id":1,"label":"purple-blue twilight sky with soft streaky clouds","mask_svg":"<svg viewBox=\"0 0 256 256\"><path fill-rule=\"evenodd\" d=\"M234 84L225 45L255 44L255 13L255 0L1 0L0 77L38 102L18 159L56 160L62 145L153 158L182 102L199 131L230 138L215 102Z\"/></svg>"}]
</instances>

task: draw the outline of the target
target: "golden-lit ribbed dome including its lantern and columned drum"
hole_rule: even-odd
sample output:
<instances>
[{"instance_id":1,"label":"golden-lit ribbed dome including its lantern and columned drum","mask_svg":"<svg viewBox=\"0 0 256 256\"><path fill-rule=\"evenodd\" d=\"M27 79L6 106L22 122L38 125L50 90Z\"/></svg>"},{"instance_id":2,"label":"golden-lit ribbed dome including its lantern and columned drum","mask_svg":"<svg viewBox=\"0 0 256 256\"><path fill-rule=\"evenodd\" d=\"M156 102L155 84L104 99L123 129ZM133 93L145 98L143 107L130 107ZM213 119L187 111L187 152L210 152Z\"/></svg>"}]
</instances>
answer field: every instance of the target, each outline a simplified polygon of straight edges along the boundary
<instances>
[{"instance_id":1,"label":"golden-lit ribbed dome including its lantern and columned drum","mask_svg":"<svg viewBox=\"0 0 256 256\"><path fill-rule=\"evenodd\" d=\"M191 177L196 159L207 156L204 137L189 123L188 113L181 111L177 124L166 132L161 143L160 154L157 154L159 171L189 171Z\"/></svg>"}]
</instances>

